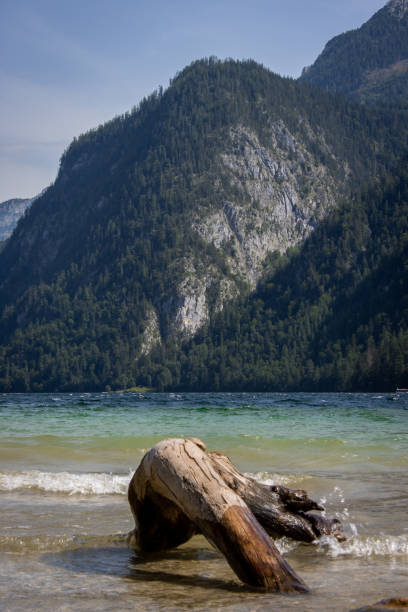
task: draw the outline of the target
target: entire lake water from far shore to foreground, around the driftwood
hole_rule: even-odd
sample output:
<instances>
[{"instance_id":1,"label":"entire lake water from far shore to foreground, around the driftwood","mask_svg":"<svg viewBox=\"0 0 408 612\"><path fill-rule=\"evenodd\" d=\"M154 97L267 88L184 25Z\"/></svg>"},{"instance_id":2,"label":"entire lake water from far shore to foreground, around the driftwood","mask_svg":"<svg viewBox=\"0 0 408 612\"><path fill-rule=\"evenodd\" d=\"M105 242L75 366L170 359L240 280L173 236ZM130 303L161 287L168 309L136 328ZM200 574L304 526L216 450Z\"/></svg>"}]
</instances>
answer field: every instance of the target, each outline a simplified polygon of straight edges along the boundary
<instances>
[{"instance_id":1,"label":"entire lake water from far shore to foreground, around the driftwood","mask_svg":"<svg viewBox=\"0 0 408 612\"><path fill-rule=\"evenodd\" d=\"M3 395L0 423L2 609L345 611L408 595L408 394ZM173 436L342 520L342 544L278 542L310 595L243 586L202 537L149 558L126 547L131 474Z\"/></svg>"}]
</instances>

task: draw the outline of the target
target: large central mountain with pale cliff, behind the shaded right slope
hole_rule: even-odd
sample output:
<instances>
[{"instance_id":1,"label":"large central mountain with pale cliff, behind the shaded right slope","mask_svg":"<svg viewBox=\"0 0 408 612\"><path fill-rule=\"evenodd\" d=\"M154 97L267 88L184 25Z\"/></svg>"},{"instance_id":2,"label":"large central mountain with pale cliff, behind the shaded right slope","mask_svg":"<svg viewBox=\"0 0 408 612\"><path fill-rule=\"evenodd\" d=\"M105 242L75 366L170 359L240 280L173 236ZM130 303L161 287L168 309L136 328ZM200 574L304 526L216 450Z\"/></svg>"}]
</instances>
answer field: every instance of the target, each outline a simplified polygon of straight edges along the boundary
<instances>
[{"instance_id":1,"label":"large central mountain with pale cliff, behind the shaded right slope","mask_svg":"<svg viewBox=\"0 0 408 612\"><path fill-rule=\"evenodd\" d=\"M0 389L183 386L185 359L209 350L189 343L240 300L250 307L284 253L396 167L407 135L404 109L354 105L251 61L193 63L74 140L8 240Z\"/></svg>"}]
</instances>

